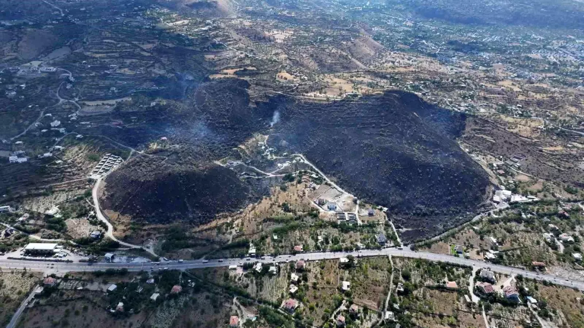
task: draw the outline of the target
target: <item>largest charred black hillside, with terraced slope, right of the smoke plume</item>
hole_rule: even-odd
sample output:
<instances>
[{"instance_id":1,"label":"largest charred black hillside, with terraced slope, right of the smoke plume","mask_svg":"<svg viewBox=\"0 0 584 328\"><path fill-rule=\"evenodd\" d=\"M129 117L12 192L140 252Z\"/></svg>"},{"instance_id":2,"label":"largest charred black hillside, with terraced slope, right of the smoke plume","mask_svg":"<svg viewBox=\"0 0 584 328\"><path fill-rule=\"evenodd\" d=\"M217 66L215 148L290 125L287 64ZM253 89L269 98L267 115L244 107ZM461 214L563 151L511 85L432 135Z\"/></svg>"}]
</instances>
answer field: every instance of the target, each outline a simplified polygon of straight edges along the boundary
<instances>
[{"instance_id":1,"label":"largest charred black hillside, with terraced slope, right of the smoke plume","mask_svg":"<svg viewBox=\"0 0 584 328\"><path fill-rule=\"evenodd\" d=\"M330 104L277 102L281 121L270 145L304 153L347 190L390 208L413 229L408 237L446 228L455 223L440 222L446 215L484 200L488 177L455 140L464 114L403 92Z\"/></svg>"}]
</instances>

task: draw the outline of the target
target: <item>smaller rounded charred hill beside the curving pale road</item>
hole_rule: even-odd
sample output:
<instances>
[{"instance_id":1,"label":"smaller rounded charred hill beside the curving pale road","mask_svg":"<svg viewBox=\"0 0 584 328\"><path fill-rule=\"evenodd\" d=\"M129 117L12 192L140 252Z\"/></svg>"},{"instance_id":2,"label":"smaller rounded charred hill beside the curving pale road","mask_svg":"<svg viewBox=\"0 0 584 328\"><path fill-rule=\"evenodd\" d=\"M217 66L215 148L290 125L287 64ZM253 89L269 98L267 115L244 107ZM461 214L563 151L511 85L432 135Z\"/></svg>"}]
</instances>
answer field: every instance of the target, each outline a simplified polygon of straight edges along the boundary
<instances>
[{"instance_id":1,"label":"smaller rounded charred hill beside the curving pale road","mask_svg":"<svg viewBox=\"0 0 584 328\"><path fill-rule=\"evenodd\" d=\"M202 224L255 201L257 190L221 166L141 156L107 177L102 204L135 222Z\"/></svg>"}]
</instances>

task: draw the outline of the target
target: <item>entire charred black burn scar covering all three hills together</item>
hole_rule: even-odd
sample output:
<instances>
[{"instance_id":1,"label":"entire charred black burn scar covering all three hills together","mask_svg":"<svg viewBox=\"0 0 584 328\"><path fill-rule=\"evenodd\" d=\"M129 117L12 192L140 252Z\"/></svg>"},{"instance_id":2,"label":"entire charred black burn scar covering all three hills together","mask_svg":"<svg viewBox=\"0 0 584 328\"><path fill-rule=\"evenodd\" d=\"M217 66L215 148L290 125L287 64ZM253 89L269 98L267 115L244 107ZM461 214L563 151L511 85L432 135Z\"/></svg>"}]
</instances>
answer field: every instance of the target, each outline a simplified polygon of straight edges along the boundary
<instances>
[{"instance_id":1,"label":"entire charred black burn scar covering all three hills together","mask_svg":"<svg viewBox=\"0 0 584 328\"><path fill-rule=\"evenodd\" d=\"M357 197L390 208L406 239L449 228L484 201L486 173L456 142L464 114L404 92L326 104L279 96L254 105L248 86L203 83L166 110L158 127L180 144L179 155L142 156L107 177L105 208L137 220L197 223L241 208L266 191L209 163L254 132L269 133L279 152L304 153ZM270 130L274 111L281 120Z\"/></svg>"}]
</instances>

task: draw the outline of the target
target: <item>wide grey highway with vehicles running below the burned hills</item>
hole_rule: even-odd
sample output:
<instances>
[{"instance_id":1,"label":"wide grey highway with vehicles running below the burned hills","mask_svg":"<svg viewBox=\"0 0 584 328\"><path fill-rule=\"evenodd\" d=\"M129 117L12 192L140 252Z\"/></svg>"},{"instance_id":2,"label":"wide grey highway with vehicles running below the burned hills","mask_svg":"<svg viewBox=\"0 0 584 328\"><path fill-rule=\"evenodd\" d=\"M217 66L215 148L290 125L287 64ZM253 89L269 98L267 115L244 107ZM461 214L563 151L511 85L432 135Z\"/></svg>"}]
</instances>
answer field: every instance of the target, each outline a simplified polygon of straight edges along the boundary
<instances>
[{"instance_id":1,"label":"wide grey highway with vehicles running below the burned hills","mask_svg":"<svg viewBox=\"0 0 584 328\"><path fill-rule=\"evenodd\" d=\"M2 270L6 269L23 269L35 270L35 271L57 271L57 272L68 272L68 271L97 271L106 270L107 268L127 268L128 271L140 271L140 270L164 270L164 268L185 270L190 268L205 268L205 267L225 267L231 265L241 265L245 262L262 262L262 263L285 263L287 261L297 261L297 260L325 260L325 259L338 259L339 257L346 257L352 255L356 258L365 256L397 256L397 257L409 257L412 259L425 259L437 262L451 263L451 264L461 264L465 266L477 268L489 268L492 271L513 275L521 274L526 278L536 279L540 281L549 281L557 285L563 285L566 287L573 287L584 290L584 280L565 280L555 275L543 274L534 271L527 271L515 267L500 266L497 264L486 263L484 261L464 259L463 257L454 257L447 254L437 254L429 252L414 252L409 249L397 249L397 248L384 248L381 250L359 250L353 252L317 252L317 253L300 253L300 254L287 254L279 256L265 256L265 259L252 258L247 260L247 258L242 259L216 259L216 260L189 260L189 261L161 261L158 266L154 263L59 263L59 262L39 262L39 261L23 261L23 260L8 260L0 259L0 268Z\"/></svg>"}]
</instances>

